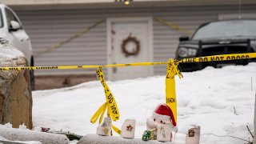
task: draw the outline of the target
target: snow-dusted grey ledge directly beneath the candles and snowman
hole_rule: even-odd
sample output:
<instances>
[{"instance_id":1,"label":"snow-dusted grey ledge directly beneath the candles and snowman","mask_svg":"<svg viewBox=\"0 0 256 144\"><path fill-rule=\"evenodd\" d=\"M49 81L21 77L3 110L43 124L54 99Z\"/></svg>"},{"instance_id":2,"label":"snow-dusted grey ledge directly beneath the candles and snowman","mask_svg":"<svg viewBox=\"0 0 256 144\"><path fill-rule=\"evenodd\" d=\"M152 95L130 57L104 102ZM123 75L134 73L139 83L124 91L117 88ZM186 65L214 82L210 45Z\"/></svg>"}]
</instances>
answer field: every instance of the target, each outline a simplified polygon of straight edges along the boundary
<instances>
[{"instance_id":1,"label":"snow-dusted grey ledge directly beneath the candles and snowman","mask_svg":"<svg viewBox=\"0 0 256 144\"><path fill-rule=\"evenodd\" d=\"M134 138L122 138L115 136L100 136L98 134L87 134L82 137L78 144L174 144L174 142L158 142L156 140L142 141L142 139Z\"/></svg>"}]
</instances>

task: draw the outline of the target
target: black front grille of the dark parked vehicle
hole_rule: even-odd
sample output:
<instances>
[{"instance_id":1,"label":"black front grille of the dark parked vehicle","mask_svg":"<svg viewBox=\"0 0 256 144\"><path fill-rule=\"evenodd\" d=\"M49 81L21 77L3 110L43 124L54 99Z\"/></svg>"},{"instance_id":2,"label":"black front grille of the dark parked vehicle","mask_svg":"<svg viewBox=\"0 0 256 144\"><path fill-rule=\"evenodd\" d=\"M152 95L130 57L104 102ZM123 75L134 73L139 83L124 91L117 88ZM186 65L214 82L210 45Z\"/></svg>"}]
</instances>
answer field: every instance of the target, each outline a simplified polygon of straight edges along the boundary
<instances>
[{"instance_id":1,"label":"black front grille of the dark parked vehicle","mask_svg":"<svg viewBox=\"0 0 256 144\"><path fill-rule=\"evenodd\" d=\"M218 46L202 49L202 56L247 53L247 46Z\"/></svg>"}]
</instances>

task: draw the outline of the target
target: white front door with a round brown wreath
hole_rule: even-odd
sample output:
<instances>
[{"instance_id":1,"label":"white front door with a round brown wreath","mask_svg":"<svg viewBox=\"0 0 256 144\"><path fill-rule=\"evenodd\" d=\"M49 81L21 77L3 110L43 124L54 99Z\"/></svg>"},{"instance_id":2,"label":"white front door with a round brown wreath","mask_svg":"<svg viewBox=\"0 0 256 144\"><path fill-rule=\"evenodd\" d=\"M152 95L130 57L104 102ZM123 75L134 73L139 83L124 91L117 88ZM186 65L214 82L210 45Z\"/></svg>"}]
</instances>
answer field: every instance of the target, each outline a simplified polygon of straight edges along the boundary
<instances>
[{"instance_id":1,"label":"white front door with a round brown wreath","mask_svg":"<svg viewBox=\"0 0 256 144\"><path fill-rule=\"evenodd\" d=\"M107 21L108 64L152 62L152 18L109 18ZM109 80L145 78L153 66L108 68Z\"/></svg>"}]
</instances>

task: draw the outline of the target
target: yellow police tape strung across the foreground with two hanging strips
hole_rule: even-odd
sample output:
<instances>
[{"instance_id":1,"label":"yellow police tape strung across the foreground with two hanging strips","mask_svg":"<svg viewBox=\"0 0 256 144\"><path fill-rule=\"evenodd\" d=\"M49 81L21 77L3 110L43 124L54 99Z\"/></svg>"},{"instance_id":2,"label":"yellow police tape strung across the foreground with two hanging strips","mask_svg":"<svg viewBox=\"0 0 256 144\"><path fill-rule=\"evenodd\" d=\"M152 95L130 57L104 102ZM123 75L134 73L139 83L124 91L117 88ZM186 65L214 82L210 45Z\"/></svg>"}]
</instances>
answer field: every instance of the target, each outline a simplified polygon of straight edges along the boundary
<instances>
[{"instance_id":1,"label":"yellow police tape strung across the foreground with two hanging strips","mask_svg":"<svg viewBox=\"0 0 256 144\"><path fill-rule=\"evenodd\" d=\"M167 65L166 68L166 104L170 106L170 109L173 110L174 120L177 124L177 100L176 100L176 91L175 91L175 78L177 74L179 78L182 78L182 74L178 69L178 64L180 62L215 62L215 61L229 61L229 60L238 60L238 59L249 59L256 58L256 53L245 53L245 54L222 54L222 55L213 55L206 57L198 58L183 58L182 60L172 60L169 62L135 62L127 64L111 64L103 66L25 66L25 67L0 67L0 70L63 70L63 69L86 69L86 68L97 68L96 72L99 80L102 82L106 94L106 102L100 106L96 111L93 117L90 119L90 122L94 123L99 118L99 124L102 122L103 115L107 110L107 116L113 121L117 121L119 116L118 106L115 102L114 95L111 94L109 87L106 84L104 74L102 72L103 67L124 67L124 66L154 66L154 65ZM116 126L112 125L112 129L121 134ZM112 131L111 131L112 134Z\"/></svg>"}]
</instances>

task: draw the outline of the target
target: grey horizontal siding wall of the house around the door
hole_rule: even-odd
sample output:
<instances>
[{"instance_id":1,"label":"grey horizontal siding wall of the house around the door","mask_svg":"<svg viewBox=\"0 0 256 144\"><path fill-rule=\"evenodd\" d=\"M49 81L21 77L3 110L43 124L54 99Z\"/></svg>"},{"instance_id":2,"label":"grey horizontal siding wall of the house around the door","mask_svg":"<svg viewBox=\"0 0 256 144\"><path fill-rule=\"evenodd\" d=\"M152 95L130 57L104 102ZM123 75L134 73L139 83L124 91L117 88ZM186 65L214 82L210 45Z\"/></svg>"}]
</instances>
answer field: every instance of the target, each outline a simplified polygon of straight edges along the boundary
<instances>
[{"instance_id":1,"label":"grey horizontal siding wall of the house around the door","mask_svg":"<svg viewBox=\"0 0 256 144\"><path fill-rule=\"evenodd\" d=\"M34 48L46 50L55 42L76 34L102 18L160 17L189 30L202 22L218 19L219 14L237 14L238 6L169 6L147 8L78 9L78 10L16 10ZM242 13L255 13L256 5L242 6ZM174 58L182 31L154 21L154 62ZM106 22L74 41L34 58L36 66L104 65L106 57ZM165 66L154 66L154 74L165 74ZM94 70L36 70L42 74L94 74Z\"/></svg>"}]
</instances>

